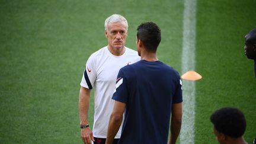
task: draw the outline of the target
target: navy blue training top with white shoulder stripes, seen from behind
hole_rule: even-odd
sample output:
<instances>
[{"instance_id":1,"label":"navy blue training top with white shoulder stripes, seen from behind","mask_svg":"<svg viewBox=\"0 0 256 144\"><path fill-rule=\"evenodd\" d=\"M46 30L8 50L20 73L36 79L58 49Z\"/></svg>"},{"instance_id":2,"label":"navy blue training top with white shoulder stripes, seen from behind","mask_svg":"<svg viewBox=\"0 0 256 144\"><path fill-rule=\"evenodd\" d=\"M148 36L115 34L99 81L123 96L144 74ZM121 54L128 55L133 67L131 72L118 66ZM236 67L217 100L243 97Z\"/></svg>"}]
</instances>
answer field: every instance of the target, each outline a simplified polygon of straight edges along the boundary
<instances>
[{"instance_id":1,"label":"navy blue training top with white shoulder stripes, seen from behind","mask_svg":"<svg viewBox=\"0 0 256 144\"><path fill-rule=\"evenodd\" d=\"M119 143L167 143L172 104L183 101L181 87L179 73L161 61L121 68L113 95L126 103Z\"/></svg>"}]
</instances>

